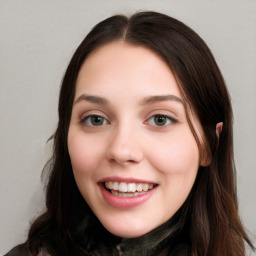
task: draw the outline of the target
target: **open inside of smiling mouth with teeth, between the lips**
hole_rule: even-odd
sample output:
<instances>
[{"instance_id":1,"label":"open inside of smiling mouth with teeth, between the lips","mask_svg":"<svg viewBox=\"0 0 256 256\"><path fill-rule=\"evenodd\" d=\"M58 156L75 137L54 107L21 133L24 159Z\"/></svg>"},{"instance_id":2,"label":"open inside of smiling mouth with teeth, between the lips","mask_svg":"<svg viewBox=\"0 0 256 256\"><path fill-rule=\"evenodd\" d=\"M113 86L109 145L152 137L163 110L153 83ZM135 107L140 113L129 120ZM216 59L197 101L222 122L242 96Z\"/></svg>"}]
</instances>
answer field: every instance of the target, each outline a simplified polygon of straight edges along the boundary
<instances>
[{"instance_id":1,"label":"open inside of smiling mouth with teeth, between the lips","mask_svg":"<svg viewBox=\"0 0 256 256\"><path fill-rule=\"evenodd\" d=\"M156 186L157 184L152 183L126 183L117 181L104 182L105 189L112 195L119 197L141 196Z\"/></svg>"}]
</instances>

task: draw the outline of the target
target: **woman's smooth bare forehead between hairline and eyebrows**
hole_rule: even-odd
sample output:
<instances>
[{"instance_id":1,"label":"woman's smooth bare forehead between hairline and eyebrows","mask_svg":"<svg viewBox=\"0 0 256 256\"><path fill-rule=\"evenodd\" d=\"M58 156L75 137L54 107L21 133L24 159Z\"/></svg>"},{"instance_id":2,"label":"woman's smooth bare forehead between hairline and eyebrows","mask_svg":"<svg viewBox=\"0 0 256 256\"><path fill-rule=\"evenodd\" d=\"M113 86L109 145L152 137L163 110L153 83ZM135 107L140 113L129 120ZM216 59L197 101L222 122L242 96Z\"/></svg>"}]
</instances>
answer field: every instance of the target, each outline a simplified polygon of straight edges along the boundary
<instances>
[{"instance_id":1,"label":"woman's smooth bare forehead between hairline and eyebrows","mask_svg":"<svg viewBox=\"0 0 256 256\"><path fill-rule=\"evenodd\" d=\"M122 41L108 43L92 52L82 65L76 83L76 95L83 90L104 91L109 87L146 90L151 94L180 96L170 67L154 51Z\"/></svg>"}]
</instances>

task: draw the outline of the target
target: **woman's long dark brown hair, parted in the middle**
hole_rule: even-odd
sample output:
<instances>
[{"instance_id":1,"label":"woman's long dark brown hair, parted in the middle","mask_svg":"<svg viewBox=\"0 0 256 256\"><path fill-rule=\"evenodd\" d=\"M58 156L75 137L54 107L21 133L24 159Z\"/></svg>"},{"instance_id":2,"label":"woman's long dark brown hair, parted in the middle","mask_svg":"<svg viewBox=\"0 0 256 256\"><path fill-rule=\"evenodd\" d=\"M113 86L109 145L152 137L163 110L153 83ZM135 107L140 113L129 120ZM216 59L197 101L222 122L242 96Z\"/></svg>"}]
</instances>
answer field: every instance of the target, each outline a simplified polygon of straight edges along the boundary
<instances>
[{"instance_id":1,"label":"woman's long dark brown hair, parted in the middle","mask_svg":"<svg viewBox=\"0 0 256 256\"><path fill-rule=\"evenodd\" d=\"M253 245L238 216L232 108L224 79L209 48L193 30L155 12L140 12L130 18L116 15L100 22L74 53L60 90L47 209L30 228L30 251L36 255L51 232L58 237L55 247L79 244L74 227L90 209L78 191L67 148L76 79L87 56L115 40L147 47L161 56L176 76L186 108L193 109L203 127L212 161L208 167L199 168L183 211L183 218L189 223L190 255L243 256L245 242L252 248ZM218 122L224 123L219 139L215 132Z\"/></svg>"}]
</instances>

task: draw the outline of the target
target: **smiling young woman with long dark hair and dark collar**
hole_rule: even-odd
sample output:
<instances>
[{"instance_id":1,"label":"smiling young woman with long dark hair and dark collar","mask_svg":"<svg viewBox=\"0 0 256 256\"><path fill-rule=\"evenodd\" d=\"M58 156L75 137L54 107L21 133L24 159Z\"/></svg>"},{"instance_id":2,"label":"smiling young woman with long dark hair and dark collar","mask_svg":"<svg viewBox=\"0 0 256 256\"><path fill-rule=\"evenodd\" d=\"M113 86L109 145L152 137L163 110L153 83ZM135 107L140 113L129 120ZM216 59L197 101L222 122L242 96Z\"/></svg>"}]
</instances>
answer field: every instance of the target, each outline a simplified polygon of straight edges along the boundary
<instances>
[{"instance_id":1,"label":"smiling young woman with long dark hair and dark collar","mask_svg":"<svg viewBox=\"0 0 256 256\"><path fill-rule=\"evenodd\" d=\"M154 12L96 25L64 76L46 212L7 255L245 255L232 108L203 40Z\"/></svg>"}]
</instances>

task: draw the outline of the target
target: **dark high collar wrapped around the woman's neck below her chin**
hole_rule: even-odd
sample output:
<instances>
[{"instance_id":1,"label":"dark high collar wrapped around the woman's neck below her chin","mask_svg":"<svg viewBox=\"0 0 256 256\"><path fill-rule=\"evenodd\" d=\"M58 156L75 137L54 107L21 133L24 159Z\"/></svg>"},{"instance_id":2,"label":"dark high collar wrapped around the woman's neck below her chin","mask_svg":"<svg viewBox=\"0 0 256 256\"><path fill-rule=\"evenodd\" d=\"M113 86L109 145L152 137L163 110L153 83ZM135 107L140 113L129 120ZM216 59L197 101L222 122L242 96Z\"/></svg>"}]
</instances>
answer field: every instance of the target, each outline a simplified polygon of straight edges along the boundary
<instances>
[{"instance_id":1,"label":"dark high collar wrapped around the woman's neck below her chin","mask_svg":"<svg viewBox=\"0 0 256 256\"><path fill-rule=\"evenodd\" d=\"M95 226L95 221L98 223ZM87 250L90 255L137 256L159 255L167 248L176 245L182 236L184 220L181 209L166 223L137 238L120 238L109 233L98 220L89 221L85 236L91 241ZM93 232L92 232L93 230Z\"/></svg>"}]
</instances>

